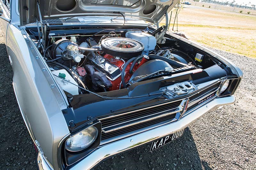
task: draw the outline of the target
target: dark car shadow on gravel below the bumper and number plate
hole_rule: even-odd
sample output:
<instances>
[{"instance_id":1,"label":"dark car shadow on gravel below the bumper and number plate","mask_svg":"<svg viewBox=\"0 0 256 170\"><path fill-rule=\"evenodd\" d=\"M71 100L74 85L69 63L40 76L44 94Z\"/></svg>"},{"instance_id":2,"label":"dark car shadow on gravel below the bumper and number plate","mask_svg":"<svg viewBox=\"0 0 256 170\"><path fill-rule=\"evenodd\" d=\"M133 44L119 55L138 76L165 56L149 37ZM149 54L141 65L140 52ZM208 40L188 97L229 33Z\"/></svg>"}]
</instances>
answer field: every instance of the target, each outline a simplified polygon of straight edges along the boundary
<instances>
[{"instance_id":1,"label":"dark car shadow on gravel below the bumper and number plate","mask_svg":"<svg viewBox=\"0 0 256 170\"><path fill-rule=\"evenodd\" d=\"M149 152L151 142L131 151L111 157L94 170L99 169L209 169L205 160L201 160L193 136L186 128L182 137Z\"/></svg>"}]
</instances>

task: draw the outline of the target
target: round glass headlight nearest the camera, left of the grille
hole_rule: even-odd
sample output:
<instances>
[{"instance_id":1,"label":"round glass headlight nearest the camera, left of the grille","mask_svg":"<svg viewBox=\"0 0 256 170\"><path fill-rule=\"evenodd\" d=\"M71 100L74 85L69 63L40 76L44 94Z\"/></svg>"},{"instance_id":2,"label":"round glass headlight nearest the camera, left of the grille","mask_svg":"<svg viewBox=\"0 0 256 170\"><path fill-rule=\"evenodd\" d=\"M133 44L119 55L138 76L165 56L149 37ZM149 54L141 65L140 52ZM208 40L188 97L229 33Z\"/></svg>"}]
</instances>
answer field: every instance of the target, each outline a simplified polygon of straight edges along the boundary
<instances>
[{"instance_id":1,"label":"round glass headlight nearest the camera, left of the grille","mask_svg":"<svg viewBox=\"0 0 256 170\"><path fill-rule=\"evenodd\" d=\"M65 148L68 151L81 151L90 146L98 136L98 129L94 126L87 128L73 137L68 138Z\"/></svg>"}]
</instances>

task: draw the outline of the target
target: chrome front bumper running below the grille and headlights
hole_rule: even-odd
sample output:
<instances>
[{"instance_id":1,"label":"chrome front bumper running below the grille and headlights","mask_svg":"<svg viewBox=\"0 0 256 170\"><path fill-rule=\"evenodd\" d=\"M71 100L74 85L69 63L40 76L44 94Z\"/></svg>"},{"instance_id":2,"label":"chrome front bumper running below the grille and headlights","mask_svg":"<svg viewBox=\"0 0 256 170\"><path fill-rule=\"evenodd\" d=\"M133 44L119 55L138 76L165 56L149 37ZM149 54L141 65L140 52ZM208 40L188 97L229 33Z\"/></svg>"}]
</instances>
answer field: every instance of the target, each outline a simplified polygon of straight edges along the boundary
<instances>
[{"instance_id":1,"label":"chrome front bumper running below the grille and headlights","mask_svg":"<svg viewBox=\"0 0 256 170\"><path fill-rule=\"evenodd\" d=\"M184 129L190 123L194 122L196 119L209 112L210 110L213 110L220 106L233 104L235 103L235 100L236 99L233 95L228 97L215 98L205 103L201 107L197 108L196 110L190 112L188 115L182 117L176 122L172 122L170 124L166 124L155 129L151 129L146 132L134 135L132 137L118 140L113 143L102 145L91 154L89 154L87 157L80 160L78 163L68 169L91 169L92 167L99 164L102 160L108 157L112 157L117 153L124 152L142 144L151 142L157 138L164 137L166 135ZM47 164L47 161L43 155L38 154L37 162L38 160L40 160L38 163L39 167L44 167L42 169L51 169L51 167L47 168L47 165L49 164Z\"/></svg>"}]
</instances>

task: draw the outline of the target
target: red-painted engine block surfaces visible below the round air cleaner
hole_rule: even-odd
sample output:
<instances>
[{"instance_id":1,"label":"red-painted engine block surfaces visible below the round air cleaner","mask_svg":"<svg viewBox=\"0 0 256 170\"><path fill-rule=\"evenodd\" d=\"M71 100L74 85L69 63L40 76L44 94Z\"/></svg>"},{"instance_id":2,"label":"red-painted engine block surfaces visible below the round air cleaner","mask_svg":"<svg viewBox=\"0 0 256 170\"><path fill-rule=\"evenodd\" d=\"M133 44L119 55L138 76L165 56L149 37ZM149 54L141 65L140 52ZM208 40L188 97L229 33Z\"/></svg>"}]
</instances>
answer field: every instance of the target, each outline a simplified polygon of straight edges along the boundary
<instances>
[{"instance_id":1,"label":"red-painted engine block surfaces visible below the round air cleaner","mask_svg":"<svg viewBox=\"0 0 256 170\"><path fill-rule=\"evenodd\" d=\"M116 57L106 54L104 55L104 58L108 59L112 64L116 65L117 67L119 67L119 69L122 71L122 65L124 64L124 62L121 59L116 59ZM125 69L125 75L124 75L124 80L127 83L130 78L132 77L132 74L129 73L129 70L132 66L132 62L128 64L128 66ZM135 64L133 71L135 71L138 67L138 63ZM111 81L111 80L110 80ZM112 86L108 88L109 91L113 91L113 90L118 90L121 84L121 76L119 76L118 78L116 78L115 80L111 81ZM121 85L122 87L122 85Z\"/></svg>"}]
</instances>

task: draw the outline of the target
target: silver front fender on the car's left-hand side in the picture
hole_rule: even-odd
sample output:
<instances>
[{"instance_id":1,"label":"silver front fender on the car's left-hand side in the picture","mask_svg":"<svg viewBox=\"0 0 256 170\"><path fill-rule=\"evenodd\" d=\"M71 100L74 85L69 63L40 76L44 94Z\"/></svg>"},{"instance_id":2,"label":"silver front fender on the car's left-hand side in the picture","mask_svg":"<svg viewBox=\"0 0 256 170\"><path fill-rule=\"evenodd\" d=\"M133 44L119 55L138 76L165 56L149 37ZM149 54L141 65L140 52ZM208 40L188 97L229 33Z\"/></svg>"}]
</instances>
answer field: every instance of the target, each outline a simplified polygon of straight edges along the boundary
<instances>
[{"instance_id":1,"label":"silver front fender on the car's left-hand side in the picture","mask_svg":"<svg viewBox=\"0 0 256 170\"><path fill-rule=\"evenodd\" d=\"M8 26L7 52L12 59L13 87L33 141L39 142L49 163L59 169L58 144L69 130L53 89L36 61L36 50L28 46L28 41L18 27Z\"/></svg>"}]
</instances>

